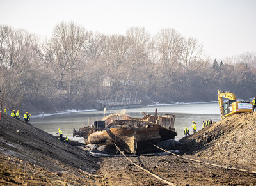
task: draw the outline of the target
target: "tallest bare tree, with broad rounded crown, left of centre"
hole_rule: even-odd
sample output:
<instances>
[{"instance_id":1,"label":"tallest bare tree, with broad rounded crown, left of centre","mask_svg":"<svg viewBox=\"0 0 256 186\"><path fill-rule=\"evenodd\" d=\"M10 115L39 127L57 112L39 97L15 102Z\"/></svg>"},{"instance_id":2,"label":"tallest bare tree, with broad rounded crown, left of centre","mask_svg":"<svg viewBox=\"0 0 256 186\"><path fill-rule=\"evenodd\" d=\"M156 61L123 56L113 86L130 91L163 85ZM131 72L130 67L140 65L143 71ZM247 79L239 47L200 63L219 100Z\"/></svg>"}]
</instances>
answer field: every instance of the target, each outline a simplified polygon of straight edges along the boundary
<instances>
[{"instance_id":1,"label":"tallest bare tree, with broad rounded crown, left of centre","mask_svg":"<svg viewBox=\"0 0 256 186\"><path fill-rule=\"evenodd\" d=\"M68 99L72 93L76 93L74 84L77 80L77 71L83 66L86 54L83 52L83 38L85 31L83 27L74 22L61 23L54 28L54 33L49 41L48 52L58 72L58 88L67 89Z\"/></svg>"}]
</instances>

